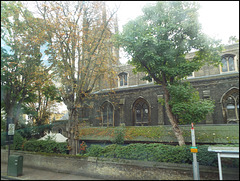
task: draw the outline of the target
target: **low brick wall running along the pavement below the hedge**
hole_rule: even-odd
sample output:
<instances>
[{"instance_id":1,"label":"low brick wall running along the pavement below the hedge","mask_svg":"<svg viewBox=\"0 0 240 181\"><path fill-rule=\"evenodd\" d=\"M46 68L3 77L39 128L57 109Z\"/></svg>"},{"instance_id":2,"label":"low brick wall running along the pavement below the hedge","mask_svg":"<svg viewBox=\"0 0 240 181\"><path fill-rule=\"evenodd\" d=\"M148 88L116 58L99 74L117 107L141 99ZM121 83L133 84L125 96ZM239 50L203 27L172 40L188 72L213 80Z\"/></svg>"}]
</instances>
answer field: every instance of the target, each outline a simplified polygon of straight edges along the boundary
<instances>
[{"instance_id":1,"label":"low brick wall running along the pavement below the hedge","mask_svg":"<svg viewBox=\"0 0 240 181\"><path fill-rule=\"evenodd\" d=\"M76 158L63 156L43 156L25 151L13 151L11 155L23 156L24 167L32 167L54 172L81 174L102 179L116 180L192 180L192 165L138 160L107 158ZM7 163L8 151L1 149L1 161ZM223 173L233 174L239 178L236 169L224 169ZM201 180L218 179L218 168L200 166Z\"/></svg>"}]
</instances>

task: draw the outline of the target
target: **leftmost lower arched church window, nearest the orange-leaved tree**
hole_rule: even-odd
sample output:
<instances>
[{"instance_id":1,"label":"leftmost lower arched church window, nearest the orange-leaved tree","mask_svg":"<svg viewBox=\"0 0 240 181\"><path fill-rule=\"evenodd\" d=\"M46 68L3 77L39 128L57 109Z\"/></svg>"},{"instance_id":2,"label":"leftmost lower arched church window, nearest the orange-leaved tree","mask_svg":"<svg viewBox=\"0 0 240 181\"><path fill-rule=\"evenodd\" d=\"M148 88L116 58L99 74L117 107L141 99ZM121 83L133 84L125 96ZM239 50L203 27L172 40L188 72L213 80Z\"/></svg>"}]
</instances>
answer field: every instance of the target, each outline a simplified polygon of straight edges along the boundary
<instances>
[{"instance_id":1,"label":"leftmost lower arched church window, nearest the orange-leaved tree","mask_svg":"<svg viewBox=\"0 0 240 181\"><path fill-rule=\"evenodd\" d=\"M106 101L101 106L102 126L114 126L114 108L113 105Z\"/></svg>"}]
</instances>

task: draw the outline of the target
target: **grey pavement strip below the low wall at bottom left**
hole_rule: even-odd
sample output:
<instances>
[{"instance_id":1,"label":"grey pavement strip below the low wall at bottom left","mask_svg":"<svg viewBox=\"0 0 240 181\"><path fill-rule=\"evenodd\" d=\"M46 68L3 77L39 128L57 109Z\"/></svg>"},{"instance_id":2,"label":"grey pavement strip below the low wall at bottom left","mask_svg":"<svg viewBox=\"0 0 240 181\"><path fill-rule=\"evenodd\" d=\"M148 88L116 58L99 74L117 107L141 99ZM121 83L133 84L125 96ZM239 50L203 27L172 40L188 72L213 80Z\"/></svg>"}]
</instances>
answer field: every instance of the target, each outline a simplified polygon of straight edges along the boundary
<instances>
[{"instance_id":1,"label":"grey pavement strip below the low wall at bottom left","mask_svg":"<svg viewBox=\"0 0 240 181\"><path fill-rule=\"evenodd\" d=\"M7 176L7 163L1 162L1 180L102 180L82 175L57 173L23 167L23 175L18 177Z\"/></svg>"}]
</instances>

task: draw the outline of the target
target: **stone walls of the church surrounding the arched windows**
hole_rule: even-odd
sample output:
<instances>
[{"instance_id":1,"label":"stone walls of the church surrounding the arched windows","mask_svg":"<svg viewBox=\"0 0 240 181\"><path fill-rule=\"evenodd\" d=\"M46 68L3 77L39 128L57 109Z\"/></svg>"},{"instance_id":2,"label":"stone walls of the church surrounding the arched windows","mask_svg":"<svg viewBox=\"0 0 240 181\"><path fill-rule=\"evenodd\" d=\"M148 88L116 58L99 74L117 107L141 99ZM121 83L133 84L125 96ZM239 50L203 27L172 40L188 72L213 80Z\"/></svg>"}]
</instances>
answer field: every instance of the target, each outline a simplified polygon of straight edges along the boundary
<instances>
[{"instance_id":1,"label":"stone walls of the church surrounding the arched windows","mask_svg":"<svg viewBox=\"0 0 240 181\"><path fill-rule=\"evenodd\" d=\"M199 92L202 99L212 99L215 102L215 110L209 114L202 124L225 124L226 119L223 116L221 97L231 88L239 90L239 44L229 45L221 55L232 54L235 56L235 71L221 72L221 66L204 66L198 72L193 73L193 77L189 77L185 81L190 81L193 87ZM192 58L194 53L190 53L188 58ZM102 126L103 119L109 119L114 126L125 124L126 126L136 125L134 121L135 103L138 101L148 105L146 110L149 116L148 125L168 125L168 117L165 108L159 102L159 98L163 98L164 93L159 85L141 80L144 73L133 74L131 65L121 65L116 68L118 75L120 73L127 74L127 85L110 89L93 92L91 98L86 101L88 107L88 122L91 126ZM135 102L136 101L136 102ZM239 101L238 101L239 102ZM104 103L108 104L106 108L107 116L103 115L105 109ZM239 110L239 109L238 109ZM239 114L239 113L238 113ZM139 114L140 115L140 114ZM144 115L141 112L141 115ZM104 117L105 116L105 117ZM143 116L144 117L144 116ZM142 118L143 119L143 118ZM145 118L147 120L147 117ZM144 124L143 124L144 125Z\"/></svg>"}]
</instances>

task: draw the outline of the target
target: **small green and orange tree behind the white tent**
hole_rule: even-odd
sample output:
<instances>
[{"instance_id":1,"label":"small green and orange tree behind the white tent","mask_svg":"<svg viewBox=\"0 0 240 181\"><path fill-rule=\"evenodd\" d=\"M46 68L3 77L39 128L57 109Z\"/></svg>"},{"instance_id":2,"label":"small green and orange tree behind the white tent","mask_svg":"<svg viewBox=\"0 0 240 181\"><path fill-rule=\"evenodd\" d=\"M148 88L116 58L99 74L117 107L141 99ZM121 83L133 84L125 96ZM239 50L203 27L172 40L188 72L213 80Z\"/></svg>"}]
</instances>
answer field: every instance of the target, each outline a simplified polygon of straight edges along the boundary
<instances>
[{"instance_id":1,"label":"small green and orange tree behind the white tent","mask_svg":"<svg viewBox=\"0 0 240 181\"><path fill-rule=\"evenodd\" d=\"M36 92L23 104L23 113L27 114L34 121L35 137L44 136L44 131L50 130L50 115L56 107L56 102L60 102L59 92L54 83L51 81L51 74L40 74L42 79L39 79L36 85Z\"/></svg>"}]
</instances>

